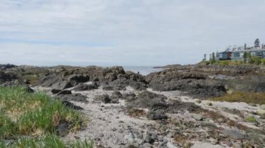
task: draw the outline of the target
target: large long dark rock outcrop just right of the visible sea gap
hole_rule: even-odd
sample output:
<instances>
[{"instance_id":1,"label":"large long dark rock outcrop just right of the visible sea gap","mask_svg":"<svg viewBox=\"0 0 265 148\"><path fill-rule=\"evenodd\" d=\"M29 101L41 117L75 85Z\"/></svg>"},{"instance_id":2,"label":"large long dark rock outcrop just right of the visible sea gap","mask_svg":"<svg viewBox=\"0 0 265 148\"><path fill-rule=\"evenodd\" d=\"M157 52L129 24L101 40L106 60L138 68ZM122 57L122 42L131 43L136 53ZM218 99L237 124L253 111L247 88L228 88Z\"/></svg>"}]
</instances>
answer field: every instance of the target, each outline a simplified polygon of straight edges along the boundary
<instances>
[{"instance_id":1,"label":"large long dark rock outcrop just right of the visible sea gap","mask_svg":"<svg viewBox=\"0 0 265 148\"><path fill-rule=\"evenodd\" d=\"M149 87L153 90L181 90L192 96L205 98L217 97L226 93L225 85L209 79L197 72L179 72L178 69L167 69L147 76Z\"/></svg>"}]
</instances>

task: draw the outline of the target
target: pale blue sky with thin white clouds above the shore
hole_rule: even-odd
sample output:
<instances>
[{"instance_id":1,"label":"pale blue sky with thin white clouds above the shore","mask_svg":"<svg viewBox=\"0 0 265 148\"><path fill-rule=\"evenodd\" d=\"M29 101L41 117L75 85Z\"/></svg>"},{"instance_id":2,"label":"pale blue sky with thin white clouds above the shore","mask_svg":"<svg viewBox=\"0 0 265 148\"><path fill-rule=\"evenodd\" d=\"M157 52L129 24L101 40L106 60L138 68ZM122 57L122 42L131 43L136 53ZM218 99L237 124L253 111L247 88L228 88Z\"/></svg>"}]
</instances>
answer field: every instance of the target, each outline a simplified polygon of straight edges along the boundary
<instances>
[{"instance_id":1,"label":"pale blue sky with thin white clouds above the shore","mask_svg":"<svg viewBox=\"0 0 265 148\"><path fill-rule=\"evenodd\" d=\"M0 63L194 64L256 38L264 0L1 0Z\"/></svg>"}]
</instances>

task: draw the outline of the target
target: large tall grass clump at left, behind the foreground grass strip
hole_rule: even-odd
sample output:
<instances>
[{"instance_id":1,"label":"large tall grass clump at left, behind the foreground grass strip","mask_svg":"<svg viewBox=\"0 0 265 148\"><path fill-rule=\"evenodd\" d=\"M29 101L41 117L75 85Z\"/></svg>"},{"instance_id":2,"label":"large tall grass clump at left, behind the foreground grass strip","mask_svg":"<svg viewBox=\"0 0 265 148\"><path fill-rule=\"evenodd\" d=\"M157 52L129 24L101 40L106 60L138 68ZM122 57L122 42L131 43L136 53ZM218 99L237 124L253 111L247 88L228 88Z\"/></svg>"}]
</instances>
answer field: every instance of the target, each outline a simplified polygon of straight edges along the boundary
<instances>
[{"instance_id":1,"label":"large tall grass clump at left, behind the foreground grass strip","mask_svg":"<svg viewBox=\"0 0 265 148\"><path fill-rule=\"evenodd\" d=\"M58 99L37 92L31 94L20 87L0 87L0 139L11 135L43 135L55 133L55 127L67 122L79 129L81 117Z\"/></svg>"}]
</instances>

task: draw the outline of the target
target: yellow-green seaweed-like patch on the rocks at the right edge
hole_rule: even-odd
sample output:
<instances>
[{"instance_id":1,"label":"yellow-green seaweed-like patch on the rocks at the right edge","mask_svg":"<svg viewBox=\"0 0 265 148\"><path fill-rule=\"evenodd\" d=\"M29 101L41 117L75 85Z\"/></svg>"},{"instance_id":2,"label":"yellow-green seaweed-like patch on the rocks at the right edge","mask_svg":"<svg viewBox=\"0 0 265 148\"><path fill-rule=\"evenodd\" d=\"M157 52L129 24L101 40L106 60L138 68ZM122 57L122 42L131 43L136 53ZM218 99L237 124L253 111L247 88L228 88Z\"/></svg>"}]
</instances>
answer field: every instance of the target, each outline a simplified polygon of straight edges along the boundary
<instances>
[{"instance_id":1,"label":"yellow-green seaweed-like patch on the rocks at the right edge","mask_svg":"<svg viewBox=\"0 0 265 148\"><path fill-rule=\"evenodd\" d=\"M213 101L245 102L253 104L265 104L265 92L233 92L222 97L212 98Z\"/></svg>"}]
</instances>

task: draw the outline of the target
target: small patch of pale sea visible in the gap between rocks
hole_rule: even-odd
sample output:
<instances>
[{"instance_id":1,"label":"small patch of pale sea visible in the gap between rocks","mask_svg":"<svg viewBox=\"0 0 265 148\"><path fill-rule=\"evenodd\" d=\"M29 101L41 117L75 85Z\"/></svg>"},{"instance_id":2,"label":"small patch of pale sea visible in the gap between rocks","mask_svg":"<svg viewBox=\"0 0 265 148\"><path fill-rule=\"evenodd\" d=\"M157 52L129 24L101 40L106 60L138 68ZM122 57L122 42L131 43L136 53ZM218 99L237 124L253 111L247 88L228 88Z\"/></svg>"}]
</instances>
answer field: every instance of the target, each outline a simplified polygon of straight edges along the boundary
<instances>
[{"instance_id":1,"label":"small patch of pale sea visible in the gap between rocks","mask_svg":"<svg viewBox=\"0 0 265 148\"><path fill-rule=\"evenodd\" d=\"M162 68L153 68L154 66L123 66L123 69L125 71L132 71L132 72L139 72L139 74L142 74L146 76L147 74L150 74L151 72L160 72L163 69Z\"/></svg>"}]
</instances>

